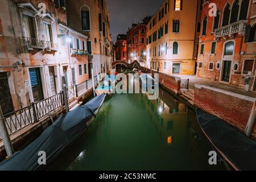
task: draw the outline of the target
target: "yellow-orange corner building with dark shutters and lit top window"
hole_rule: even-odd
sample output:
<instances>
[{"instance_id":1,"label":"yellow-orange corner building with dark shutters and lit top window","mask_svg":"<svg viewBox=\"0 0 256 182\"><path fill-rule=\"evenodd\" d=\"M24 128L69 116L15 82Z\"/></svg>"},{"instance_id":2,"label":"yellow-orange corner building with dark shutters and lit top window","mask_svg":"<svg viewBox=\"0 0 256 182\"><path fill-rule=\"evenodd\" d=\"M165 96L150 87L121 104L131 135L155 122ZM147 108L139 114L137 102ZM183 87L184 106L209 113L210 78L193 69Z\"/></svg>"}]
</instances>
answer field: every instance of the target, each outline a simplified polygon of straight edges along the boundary
<instances>
[{"instance_id":1,"label":"yellow-orange corner building with dark shutters and lit top window","mask_svg":"<svg viewBox=\"0 0 256 182\"><path fill-rule=\"evenodd\" d=\"M193 75L200 1L166 0L147 24L147 66L170 75Z\"/></svg>"}]
</instances>

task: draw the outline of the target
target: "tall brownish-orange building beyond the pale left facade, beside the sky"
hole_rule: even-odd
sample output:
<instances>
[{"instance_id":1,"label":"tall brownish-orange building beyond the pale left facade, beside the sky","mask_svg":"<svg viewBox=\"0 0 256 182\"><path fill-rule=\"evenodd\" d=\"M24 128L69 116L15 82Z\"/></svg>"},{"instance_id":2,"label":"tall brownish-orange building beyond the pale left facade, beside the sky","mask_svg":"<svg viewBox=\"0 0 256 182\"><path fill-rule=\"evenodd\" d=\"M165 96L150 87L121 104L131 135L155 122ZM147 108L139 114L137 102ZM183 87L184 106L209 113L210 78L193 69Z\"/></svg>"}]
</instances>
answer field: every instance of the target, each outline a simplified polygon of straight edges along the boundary
<instances>
[{"instance_id":1,"label":"tall brownish-orange building beyond the pale left facade, beside the sky","mask_svg":"<svg viewBox=\"0 0 256 182\"><path fill-rule=\"evenodd\" d=\"M88 36L89 78L98 72L108 72L112 61L109 11L105 0L67 0L68 26ZM93 73L92 73L93 69Z\"/></svg>"}]
</instances>

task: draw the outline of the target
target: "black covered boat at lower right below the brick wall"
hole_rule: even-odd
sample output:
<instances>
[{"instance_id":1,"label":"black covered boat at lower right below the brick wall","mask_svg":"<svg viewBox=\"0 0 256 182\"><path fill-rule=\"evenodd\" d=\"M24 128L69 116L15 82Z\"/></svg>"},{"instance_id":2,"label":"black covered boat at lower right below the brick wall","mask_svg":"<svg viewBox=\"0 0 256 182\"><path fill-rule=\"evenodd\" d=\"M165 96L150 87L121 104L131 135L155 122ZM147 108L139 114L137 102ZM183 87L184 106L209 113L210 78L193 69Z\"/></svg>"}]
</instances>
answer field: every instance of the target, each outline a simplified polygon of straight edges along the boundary
<instances>
[{"instance_id":1,"label":"black covered boat at lower right below the brick wall","mask_svg":"<svg viewBox=\"0 0 256 182\"><path fill-rule=\"evenodd\" d=\"M256 142L220 118L196 109L197 120L214 147L238 170L256 170Z\"/></svg>"}]
</instances>

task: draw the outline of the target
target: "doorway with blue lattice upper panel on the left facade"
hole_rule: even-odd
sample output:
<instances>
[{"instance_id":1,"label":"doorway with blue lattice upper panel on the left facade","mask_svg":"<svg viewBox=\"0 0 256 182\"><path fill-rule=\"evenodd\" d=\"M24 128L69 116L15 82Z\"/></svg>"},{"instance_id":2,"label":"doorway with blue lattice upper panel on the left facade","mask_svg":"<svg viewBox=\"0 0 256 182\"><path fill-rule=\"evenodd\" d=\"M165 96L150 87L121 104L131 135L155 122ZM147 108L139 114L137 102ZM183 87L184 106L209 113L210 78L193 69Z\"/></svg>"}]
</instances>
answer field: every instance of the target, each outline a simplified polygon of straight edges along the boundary
<instances>
[{"instance_id":1,"label":"doorway with blue lattice upper panel on the left facade","mask_svg":"<svg viewBox=\"0 0 256 182\"><path fill-rule=\"evenodd\" d=\"M40 68L29 68L29 72L34 102L42 101L44 99L44 95L42 89Z\"/></svg>"}]
</instances>

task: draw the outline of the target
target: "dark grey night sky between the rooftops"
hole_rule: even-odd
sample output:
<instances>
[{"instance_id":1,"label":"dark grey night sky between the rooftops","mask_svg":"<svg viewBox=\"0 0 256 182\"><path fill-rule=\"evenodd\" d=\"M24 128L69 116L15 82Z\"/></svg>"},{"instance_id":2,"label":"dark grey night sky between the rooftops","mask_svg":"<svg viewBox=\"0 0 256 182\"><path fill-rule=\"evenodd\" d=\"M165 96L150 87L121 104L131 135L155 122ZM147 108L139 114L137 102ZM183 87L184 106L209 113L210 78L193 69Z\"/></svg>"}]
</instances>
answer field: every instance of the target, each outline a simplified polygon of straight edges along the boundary
<instances>
[{"instance_id":1,"label":"dark grey night sky between the rooftops","mask_svg":"<svg viewBox=\"0 0 256 182\"><path fill-rule=\"evenodd\" d=\"M115 42L117 34L126 34L131 23L138 23L154 15L162 0L107 0L110 14L110 34Z\"/></svg>"}]
</instances>

